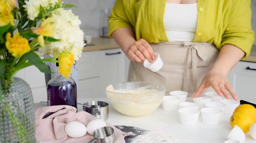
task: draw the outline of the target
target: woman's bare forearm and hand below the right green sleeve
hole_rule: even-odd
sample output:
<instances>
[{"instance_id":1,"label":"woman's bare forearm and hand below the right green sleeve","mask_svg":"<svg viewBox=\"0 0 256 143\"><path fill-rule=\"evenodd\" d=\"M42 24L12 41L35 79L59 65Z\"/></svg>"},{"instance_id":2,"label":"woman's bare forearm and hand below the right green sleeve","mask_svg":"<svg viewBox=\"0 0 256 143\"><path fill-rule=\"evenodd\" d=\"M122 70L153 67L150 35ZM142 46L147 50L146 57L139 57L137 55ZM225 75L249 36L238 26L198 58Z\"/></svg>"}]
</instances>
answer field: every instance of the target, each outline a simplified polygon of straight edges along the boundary
<instances>
[{"instance_id":1,"label":"woman's bare forearm and hand below the right green sleeve","mask_svg":"<svg viewBox=\"0 0 256 143\"><path fill-rule=\"evenodd\" d=\"M231 44L223 45L218 58L208 73L204 76L194 97L200 96L205 88L212 87L219 96L224 96L226 99L230 99L228 95L229 93L234 100L238 100L227 79L227 74L244 55L245 52L237 46Z\"/></svg>"}]
</instances>

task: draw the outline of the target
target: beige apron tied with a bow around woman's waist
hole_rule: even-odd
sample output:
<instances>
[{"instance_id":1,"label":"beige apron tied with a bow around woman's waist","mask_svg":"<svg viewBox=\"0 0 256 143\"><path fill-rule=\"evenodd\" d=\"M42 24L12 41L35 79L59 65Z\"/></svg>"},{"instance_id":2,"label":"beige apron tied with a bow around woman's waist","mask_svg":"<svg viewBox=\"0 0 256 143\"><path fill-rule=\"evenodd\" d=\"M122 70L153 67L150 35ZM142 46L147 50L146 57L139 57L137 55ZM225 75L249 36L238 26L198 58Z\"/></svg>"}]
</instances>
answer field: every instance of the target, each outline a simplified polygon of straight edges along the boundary
<instances>
[{"instance_id":1,"label":"beige apron tied with a bow around woman's waist","mask_svg":"<svg viewBox=\"0 0 256 143\"><path fill-rule=\"evenodd\" d=\"M163 67L152 72L143 63L131 61L128 81L155 82L170 91L187 91L193 95L202 78L216 60L219 50L214 44L202 42L161 42L151 43L158 52Z\"/></svg>"}]
</instances>

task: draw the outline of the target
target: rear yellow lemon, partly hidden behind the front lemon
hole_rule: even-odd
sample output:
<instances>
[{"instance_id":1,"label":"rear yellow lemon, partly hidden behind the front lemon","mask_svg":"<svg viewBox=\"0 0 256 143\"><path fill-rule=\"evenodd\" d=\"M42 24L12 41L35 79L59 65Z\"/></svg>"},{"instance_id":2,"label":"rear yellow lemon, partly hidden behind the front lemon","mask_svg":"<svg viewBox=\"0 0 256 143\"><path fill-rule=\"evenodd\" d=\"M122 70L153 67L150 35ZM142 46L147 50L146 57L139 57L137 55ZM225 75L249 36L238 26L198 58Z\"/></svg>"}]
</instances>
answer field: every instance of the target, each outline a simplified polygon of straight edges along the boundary
<instances>
[{"instance_id":1,"label":"rear yellow lemon, partly hidden behind the front lemon","mask_svg":"<svg viewBox=\"0 0 256 143\"><path fill-rule=\"evenodd\" d=\"M254 122L256 122L256 108L250 104L242 104L239 105L233 113L236 112L243 112L245 113L247 116L250 116Z\"/></svg>"}]
</instances>

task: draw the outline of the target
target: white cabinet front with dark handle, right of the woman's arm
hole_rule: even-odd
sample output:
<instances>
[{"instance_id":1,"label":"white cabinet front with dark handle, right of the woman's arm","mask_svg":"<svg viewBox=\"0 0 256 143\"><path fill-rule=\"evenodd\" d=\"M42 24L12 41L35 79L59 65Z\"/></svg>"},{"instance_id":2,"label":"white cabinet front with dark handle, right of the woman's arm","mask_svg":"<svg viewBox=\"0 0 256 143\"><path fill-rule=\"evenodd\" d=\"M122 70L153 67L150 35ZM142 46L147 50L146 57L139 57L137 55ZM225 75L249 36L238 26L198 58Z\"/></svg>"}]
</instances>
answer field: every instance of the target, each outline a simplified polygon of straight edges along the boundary
<instances>
[{"instance_id":1,"label":"white cabinet front with dark handle, right of the woman's arm","mask_svg":"<svg viewBox=\"0 0 256 143\"><path fill-rule=\"evenodd\" d=\"M228 79L240 100L256 103L256 63L240 61Z\"/></svg>"}]
</instances>

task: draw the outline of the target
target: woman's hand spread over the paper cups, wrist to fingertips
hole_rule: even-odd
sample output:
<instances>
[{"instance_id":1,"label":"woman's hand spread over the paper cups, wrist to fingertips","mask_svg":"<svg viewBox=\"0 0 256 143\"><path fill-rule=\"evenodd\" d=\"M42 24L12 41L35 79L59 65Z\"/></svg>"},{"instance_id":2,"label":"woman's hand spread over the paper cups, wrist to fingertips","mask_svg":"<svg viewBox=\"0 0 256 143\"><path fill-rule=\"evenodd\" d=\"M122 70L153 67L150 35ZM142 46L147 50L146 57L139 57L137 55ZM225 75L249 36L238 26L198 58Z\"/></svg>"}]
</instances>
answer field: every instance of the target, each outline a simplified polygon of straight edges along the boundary
<instances>
[{"instance_id":1,"label":"woman's hand spread over the paper cups, wrist to fingertips","mask_svg":"<svg viewBox=\"0 0 256 143\"><path fill-rule=\"evenodd\" d=\"M234 100L238 100L233 88L227 79L227 76L222 73L209 71L204 76L193 97L199 97L203 90L208 87L212 87L219 96L224 96L226 99L230 99L230 96L228 95L229 93Z\"/></svg>"}]
</instances>

